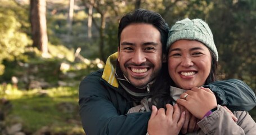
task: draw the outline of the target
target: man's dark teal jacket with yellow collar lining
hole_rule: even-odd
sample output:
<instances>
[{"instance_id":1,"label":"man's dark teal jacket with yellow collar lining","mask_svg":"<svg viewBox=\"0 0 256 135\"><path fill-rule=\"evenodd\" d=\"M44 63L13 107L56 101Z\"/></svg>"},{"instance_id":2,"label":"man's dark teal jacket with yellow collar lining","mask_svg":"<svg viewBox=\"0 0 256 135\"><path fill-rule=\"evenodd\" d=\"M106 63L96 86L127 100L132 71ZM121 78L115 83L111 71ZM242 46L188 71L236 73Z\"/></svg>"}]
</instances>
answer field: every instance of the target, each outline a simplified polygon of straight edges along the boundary
<instances>
[{"instance_id":1,"label":"man's dark teal jacket with yellow collar lining","mask_svg":"<svg viewBox=\"0 0 256 135\"><path fill-rule=\"evenodd\" d=\"M104 70L91 73L80 83L80 117L87 135L147 133L150 112L127 114L133 100L115 78L116 56L109 57ZM256 105L255 93L240 80L216 81L205 87L212 89L219 105L230 110L249 111Z\"/></svg>"}]
</instances>

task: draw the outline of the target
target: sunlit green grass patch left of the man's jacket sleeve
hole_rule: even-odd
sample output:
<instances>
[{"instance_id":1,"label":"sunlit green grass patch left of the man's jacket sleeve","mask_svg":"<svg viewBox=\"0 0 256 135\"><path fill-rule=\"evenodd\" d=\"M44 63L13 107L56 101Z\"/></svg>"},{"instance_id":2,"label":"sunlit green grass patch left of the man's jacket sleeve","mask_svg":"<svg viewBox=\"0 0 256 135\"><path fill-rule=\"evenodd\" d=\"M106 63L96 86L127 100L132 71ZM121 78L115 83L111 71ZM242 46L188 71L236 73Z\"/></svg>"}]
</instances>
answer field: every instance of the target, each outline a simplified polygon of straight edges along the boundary
<instances>
[{"instance_id":1,"label":"sunlit green grass patch left of the man's jacket sleeve","mask_svg":"<svg viewBox=\"0 0 256 135\"><path fill-rule=\"evenodd\" d=\"M47 127L51 134L85 134L79 117L78 88L12 89L6 93L12 104L7 125L21 123L27 133Z\"/></svg>"}]
</instances>

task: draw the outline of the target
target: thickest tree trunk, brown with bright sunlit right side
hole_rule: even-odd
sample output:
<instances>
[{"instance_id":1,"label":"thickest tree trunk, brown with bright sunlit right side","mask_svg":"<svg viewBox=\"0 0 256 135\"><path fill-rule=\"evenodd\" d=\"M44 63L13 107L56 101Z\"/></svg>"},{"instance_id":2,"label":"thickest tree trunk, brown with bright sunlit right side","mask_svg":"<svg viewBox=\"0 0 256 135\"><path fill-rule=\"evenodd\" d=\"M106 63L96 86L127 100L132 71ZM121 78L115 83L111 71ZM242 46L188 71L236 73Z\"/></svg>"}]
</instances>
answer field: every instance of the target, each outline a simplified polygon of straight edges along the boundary
<instances>
[{"instance_id":1,"label":"thickest tree trunk, brown with bright sunlit right side","mask_svg":"<svg viewBox=\"0 0 256 135\"><path fill-rule=\"evenodd\" d=\"M30 23L33 46L48 56L48 37L46 26L46 0L30 0Z\"/></svg>"}]
</instances>

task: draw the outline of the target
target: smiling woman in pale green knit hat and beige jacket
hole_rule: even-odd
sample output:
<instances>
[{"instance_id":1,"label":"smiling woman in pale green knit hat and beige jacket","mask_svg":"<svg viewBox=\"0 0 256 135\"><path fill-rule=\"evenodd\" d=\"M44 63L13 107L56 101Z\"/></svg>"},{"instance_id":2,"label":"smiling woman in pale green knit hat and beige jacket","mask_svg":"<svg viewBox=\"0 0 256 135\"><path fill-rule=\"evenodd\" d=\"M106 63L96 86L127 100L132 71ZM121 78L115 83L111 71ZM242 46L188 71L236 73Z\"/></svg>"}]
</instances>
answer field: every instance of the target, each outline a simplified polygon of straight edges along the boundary
<instances>
[{"instance_id":1,"label":"smiling woman in pale green knit hat and beige jacket","mask_svg":"<svg viewBox=\"0 0 256 135\"><path fill-rule=\"evenodd\" d=\"M256 123L245 111L234 111L234 122L224 107L217 105L210 89L201 86L215 81L218 52L209 26L200 19L184 19L170 29L167 44L168 71L175 87L170 87L169 98L153 97L152 100L165 105L166 99L177 100L196 118L199 131L190 134L255 134ZM163 94L160 94L163 95ZM168 94L169 95L169 94ZM179 95L177 97L177 95ZM179 106L167 104L167 111L152 106L148 132L152 134L178 134L185 113ZM169 127L169 128L168 128Z\"/></svg>"}]
</instances>

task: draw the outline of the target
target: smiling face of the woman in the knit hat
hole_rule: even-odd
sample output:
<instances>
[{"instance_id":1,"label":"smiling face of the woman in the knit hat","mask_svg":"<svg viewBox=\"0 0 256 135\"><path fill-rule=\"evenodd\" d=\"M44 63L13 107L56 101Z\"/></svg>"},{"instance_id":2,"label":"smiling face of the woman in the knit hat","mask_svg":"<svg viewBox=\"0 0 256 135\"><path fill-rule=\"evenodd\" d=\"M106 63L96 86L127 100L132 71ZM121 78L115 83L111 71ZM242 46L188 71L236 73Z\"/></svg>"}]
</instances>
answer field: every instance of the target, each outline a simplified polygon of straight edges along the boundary
<instances>
[{"instance_id":1,"label":"smiling face of the woman in the knit hat","mask_svg":"<svg viewBox=\"0 0 256 135\"><path fill-rule=\"evenodd\" d=\"M197 40L178 40L168 52L168 71L177 87L203 86L210 74L212 57L208 48Z\"/></svg>"}]
</instances>

